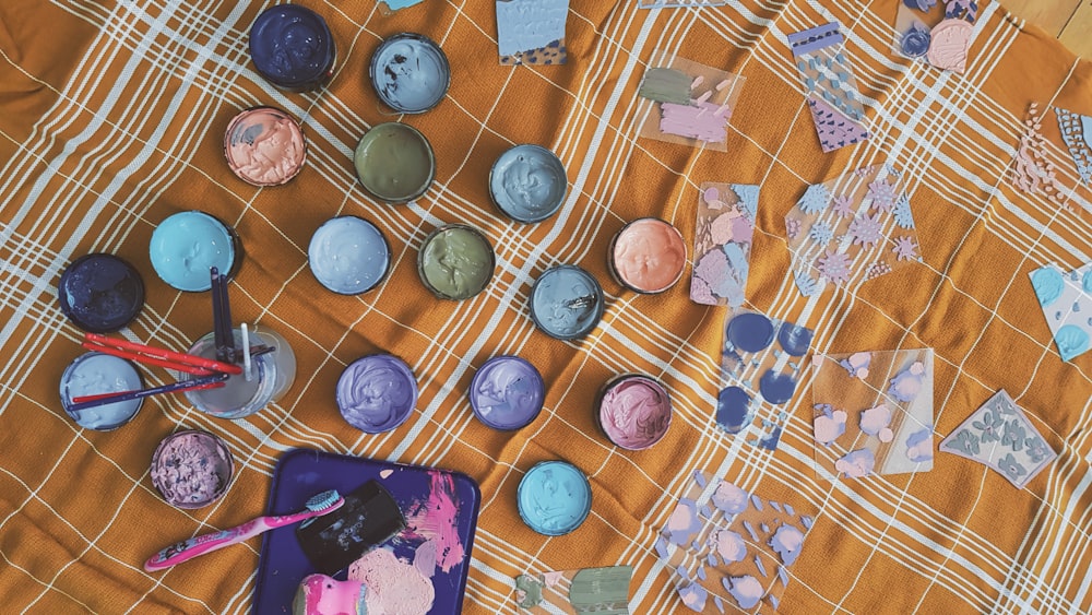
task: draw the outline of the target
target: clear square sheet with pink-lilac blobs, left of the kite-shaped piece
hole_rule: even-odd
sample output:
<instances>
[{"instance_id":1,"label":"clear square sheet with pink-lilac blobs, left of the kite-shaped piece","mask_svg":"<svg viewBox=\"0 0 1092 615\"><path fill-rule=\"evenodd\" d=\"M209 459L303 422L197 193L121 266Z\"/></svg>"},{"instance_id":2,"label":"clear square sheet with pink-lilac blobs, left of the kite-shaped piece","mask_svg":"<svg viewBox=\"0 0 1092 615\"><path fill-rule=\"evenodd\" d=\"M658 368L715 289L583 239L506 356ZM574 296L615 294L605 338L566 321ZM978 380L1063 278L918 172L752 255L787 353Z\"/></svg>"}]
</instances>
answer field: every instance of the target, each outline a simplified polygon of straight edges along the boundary
<instances>
[{"instance_id":1,"label":"clear square sheet with pink-lilac blobs, left of the kite-shaped piece","mask_svg":"<svg viewBox=\"0 0 1092 615\"><path fill-rule=\"evenodd\" d=\"M811 359L816 464L843 478L933 470L933 348Z\"/></svg>"}]
</instances>

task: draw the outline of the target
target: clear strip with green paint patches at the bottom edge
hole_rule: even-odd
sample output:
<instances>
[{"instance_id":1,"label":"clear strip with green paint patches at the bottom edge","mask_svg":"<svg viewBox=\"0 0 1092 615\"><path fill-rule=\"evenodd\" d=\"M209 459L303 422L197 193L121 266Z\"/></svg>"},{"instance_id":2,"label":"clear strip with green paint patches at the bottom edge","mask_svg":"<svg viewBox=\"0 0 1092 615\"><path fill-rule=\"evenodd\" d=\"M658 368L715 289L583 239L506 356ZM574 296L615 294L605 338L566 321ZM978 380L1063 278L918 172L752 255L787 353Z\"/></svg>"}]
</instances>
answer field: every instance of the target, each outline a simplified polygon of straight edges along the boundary
<instances>
[{"instance_id":1,"label":"clear strip with green paint patches at the bottom edge","mask_svg":"<svg viewBox=\"0 0 1092 615\"><path fill-rule=\"evenodd\" d=\"M515 578L515 604L520 613L629 613L632 566L607 566L558 570Z\"/></svg>"}]
</instances>

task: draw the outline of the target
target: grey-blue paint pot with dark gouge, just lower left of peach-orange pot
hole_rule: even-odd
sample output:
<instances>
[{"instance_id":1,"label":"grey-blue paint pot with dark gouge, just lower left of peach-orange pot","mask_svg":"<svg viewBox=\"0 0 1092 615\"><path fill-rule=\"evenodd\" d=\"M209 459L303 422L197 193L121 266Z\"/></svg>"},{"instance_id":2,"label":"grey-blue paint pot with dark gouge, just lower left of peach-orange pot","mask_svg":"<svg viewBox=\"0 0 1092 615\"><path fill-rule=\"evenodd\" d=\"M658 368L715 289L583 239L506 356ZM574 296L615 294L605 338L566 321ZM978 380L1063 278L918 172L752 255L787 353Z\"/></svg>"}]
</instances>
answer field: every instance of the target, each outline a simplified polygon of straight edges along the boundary
<instances>
[{"instance_id":1,"label":"grey-blue paint pot with dark gouge, just lower left of peach-orange pot","mask_svg":"<svg viewBox=\"0 0 1092 615\"><path fill-rule=\"evenodd\" d=\"M600 323L604 309L600 283L577 265L547 269L531 287L531 320L557 340L587 335Z\"/></svg>"}]
</instances>

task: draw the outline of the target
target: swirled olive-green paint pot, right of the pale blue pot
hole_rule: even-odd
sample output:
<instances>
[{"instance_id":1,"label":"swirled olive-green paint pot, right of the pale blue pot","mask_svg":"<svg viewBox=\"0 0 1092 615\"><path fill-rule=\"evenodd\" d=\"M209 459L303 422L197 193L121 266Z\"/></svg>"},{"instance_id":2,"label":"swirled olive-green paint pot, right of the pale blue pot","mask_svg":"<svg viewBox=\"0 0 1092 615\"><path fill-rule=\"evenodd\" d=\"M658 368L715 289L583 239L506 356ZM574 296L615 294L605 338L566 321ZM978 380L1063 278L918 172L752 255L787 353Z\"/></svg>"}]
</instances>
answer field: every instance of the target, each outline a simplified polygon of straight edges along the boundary
<instances>
[{"instance_id":1,"label":"swirled olive-green paint pot, right of the pale blue pot","mask_svg":"<svg viewBox=\"0 0 1092 615\"><path fill-rule=\"evenodd\" d=\"M422 283L441 299L461 301L477 295L489 285L495 268L489 239L465 224L437 228L417 252Z\"/></svg>"}]
</instances>

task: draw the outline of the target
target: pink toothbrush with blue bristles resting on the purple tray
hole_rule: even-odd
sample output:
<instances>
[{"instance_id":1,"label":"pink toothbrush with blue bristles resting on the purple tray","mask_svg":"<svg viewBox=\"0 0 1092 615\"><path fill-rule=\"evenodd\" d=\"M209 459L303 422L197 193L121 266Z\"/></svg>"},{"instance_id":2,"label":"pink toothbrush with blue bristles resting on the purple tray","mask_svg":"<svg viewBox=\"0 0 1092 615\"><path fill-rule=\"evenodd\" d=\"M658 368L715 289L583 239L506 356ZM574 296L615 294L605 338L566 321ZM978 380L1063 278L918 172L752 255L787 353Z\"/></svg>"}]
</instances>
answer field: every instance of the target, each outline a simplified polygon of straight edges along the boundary
<instances>
[{"instance_id":1,"label":"pink toothbrush with blue bristles resting on the purple tray","mask_svg":"<svg viewBox=\"0 0 1092 615\"><path fill-rule=\"evenodd\" d=\"M343 498L335 489L322 492L321 494L312 496L311 499L307 500L307 510L302 510L295 515L259 517L258 519L247 521L241 525L236 525L230 530L203 534L193 539L185 540L177 544L173 544L149 558L149 560L144 563L144 569L149 572L154 572L156 570L163 570L164 568L170 568L176 564L181 564L187 559L193 559L194 557L204 555L211 551L241 543L274 528L290 525L293 523L304 521L305 519L321 517L329 512L333 512L334 510L341 508L343 504L345 504L345 498Z\"/></svg>"}]
</instances>

